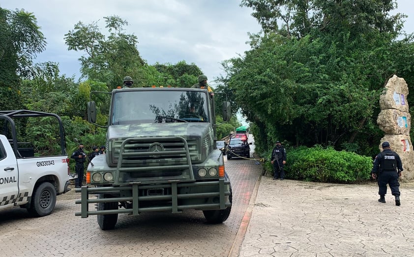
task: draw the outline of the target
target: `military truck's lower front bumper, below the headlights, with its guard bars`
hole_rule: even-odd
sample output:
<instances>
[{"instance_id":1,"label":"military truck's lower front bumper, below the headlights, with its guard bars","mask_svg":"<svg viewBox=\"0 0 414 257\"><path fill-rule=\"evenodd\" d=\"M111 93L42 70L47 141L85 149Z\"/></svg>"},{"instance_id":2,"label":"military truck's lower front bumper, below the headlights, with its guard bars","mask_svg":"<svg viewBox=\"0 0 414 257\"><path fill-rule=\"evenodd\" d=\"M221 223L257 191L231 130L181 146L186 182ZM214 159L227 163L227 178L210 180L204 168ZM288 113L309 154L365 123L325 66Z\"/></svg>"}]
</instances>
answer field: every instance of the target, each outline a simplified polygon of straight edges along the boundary
<instances>
[{"instance_id":1,"label":"military truck's lower front bumper, below the headlights, with its guard bars","mask_svg":"<svg viewBox=\"0 0 414 257\"><path fill-rule=\"evenodd\" d=\"M181 212L184 209L214 210L231 206L230 180L221 178L215 181L178 182L142 184L139 182L122 186L76 188L81 193L81 212L76 216L87 218L89 215L129 213L139 215L150 211ZM159 192L143 194L143 192ZM162 193L161 193L162 192ZM169 193L164 193L169 192ZM105 195L103 198L89 199L89 194ZM128 203L125 208L110 210L89 210L89 204Z\"/></svg>"}]
</instances>

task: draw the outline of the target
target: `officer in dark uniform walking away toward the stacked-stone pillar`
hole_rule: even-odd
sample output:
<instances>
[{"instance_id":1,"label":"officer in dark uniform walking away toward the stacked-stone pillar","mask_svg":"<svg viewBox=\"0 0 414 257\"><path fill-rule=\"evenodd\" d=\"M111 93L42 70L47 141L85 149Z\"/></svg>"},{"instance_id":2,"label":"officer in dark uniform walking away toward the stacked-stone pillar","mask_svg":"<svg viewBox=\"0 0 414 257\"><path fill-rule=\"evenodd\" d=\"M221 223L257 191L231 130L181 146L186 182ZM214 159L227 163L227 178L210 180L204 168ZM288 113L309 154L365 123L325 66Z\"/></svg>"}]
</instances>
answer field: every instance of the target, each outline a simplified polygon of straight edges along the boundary
<instances>
[{"instance_id":1,"label":"officer in dark uniform walking away toward the stacked-stone pillar","mask_svg":"<svg viewBox=\"0 0 414 257\"><path fill-rule=\"evenodd\" d=\"M398 177L401 177L403 165L400 156L390 149L389 143L382 144L384 151L375 156L374 167L371 171L372 178L378 178L380 199L378 202L385 203L386 184L391 189L391 194L395 196L395 205L400 206L400 190Z\"/></svg>"}]
</instances>

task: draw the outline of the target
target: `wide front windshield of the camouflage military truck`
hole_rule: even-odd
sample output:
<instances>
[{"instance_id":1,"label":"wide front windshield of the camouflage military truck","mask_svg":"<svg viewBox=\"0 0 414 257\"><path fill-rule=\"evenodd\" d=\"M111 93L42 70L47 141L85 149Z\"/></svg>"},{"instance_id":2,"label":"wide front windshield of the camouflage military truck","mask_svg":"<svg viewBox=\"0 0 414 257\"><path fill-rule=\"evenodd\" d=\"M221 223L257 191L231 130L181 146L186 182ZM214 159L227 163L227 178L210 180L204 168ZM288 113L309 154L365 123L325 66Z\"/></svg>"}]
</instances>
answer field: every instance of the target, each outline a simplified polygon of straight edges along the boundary
<instances>
[{"instance_id":1,"label":"wide front windshield of the camouflage military truck","mask_svg":"<svg viewBox=\"0 0 414 257\"><path fill-rule=\"evenodd\" d=\"M120 91L112 103L112 125L209 122L207 94L196 91Z\"/></svg>"}]
</instances>

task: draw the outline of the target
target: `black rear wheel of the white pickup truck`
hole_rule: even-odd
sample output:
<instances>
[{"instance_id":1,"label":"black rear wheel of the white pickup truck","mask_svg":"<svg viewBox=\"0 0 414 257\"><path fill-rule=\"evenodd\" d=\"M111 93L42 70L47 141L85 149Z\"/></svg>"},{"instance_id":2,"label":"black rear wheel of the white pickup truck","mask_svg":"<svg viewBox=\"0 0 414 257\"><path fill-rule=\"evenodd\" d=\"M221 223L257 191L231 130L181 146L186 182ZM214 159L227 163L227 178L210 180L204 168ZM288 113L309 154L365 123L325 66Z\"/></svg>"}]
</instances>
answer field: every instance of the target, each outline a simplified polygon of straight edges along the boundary
<instances>
[{"instance_id":1,"label":"black rear wheel of the white pickup truck","mask_svg":"<svg viewBox=\"0 0 414 257\"><path fill-rule=\"evenodd\" d=\"M35 217L52 213L56 205L56 188L50 182L42 182L33 191L28 211Z\"/></svg>"}]
</instances>

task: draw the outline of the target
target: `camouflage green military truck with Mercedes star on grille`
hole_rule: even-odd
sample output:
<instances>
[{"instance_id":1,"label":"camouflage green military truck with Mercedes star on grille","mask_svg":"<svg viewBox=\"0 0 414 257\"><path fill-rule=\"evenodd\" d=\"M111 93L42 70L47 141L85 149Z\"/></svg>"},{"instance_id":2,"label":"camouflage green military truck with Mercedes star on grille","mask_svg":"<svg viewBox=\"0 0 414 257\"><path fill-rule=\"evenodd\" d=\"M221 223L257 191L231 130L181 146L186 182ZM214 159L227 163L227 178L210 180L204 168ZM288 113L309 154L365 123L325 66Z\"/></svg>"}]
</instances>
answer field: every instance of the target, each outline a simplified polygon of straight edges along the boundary
<instances>
[{"instance_id":1,"label":"camouflage green military truck with Mercedes star on grille","mask_svg":"<svg viewBox=\"0 0 414 257\"><path fill-rule=\"evenodd\" d=\"M91 92L91 99L99 93ZM114 229L119 213L196 209L208 223L227 220L232 187L216 149L214 96L207 89L171 87L109 94L107 154L89 164L87 185L76 189L81 211L75 215L97 215L102 230ZM88 103L93 124L97 106ZM230 119L229 102L223 103L223 119ZM89 210L89 204L96 210Z\"/></svg>"}]
</instances>

